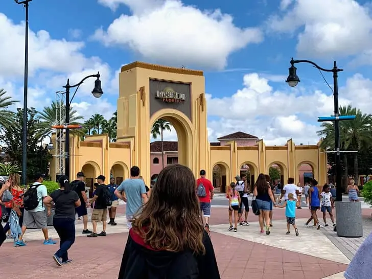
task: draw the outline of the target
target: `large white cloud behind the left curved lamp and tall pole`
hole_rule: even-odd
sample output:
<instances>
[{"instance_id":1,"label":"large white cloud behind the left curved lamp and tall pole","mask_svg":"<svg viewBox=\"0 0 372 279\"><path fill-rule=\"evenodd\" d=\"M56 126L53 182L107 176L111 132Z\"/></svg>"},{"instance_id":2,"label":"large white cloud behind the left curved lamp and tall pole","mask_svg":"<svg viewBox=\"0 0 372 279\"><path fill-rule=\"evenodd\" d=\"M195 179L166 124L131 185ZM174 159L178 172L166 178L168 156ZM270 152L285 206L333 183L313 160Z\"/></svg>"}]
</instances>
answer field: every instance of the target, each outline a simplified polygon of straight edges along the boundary
<instances>
[{"instance_id":1,"label":"large white cloud behind the left curved lamp and tall pole","mask_svg":"<svg viewBox=\"0 0 372 279\"><path fill-rule=\"evenodd\" d=\"M70 30L70 35L77 35L79 30ZM23 75L24 75L24 42L25 25L15 24L5 14L0 13L0 88L4 88L15 100L20 101L16 107L23 107ZM55 100L55 92L64 90L67 78L73 85L87 75L101 74L104 97L118 94L119 83L107 63L99 57L87 57L82 53L85 43L71 42L65 39L51 38L47 31L29 30L29 86L28 106L42 109ZM79 88L74 101L84 99L92 105L97 103L91 96L95 78L86 80ZM71 97L75 88L71 90ZM107 97L106 97L107 98ZM102 99L104 100L104 99ZM103 114L112 113L112 107L100 101ZM14 107L15 109L15 107ZM107 109L109 112L105 111ZM114 111L114 110L113 110ZM84 110L81 109L82 115Z\"/></svg>"}]
</instances>

